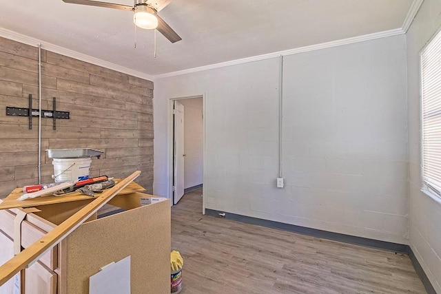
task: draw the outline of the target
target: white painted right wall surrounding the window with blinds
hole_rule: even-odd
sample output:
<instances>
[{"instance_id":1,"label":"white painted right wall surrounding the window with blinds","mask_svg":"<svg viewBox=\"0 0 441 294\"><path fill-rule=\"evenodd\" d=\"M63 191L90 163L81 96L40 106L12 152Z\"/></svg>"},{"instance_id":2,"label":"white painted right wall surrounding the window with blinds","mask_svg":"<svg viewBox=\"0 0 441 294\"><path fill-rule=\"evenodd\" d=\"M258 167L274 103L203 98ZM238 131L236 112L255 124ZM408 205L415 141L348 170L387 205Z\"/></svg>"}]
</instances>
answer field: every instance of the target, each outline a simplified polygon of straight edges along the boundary
<instances>
[{"instance_id":1,"label":"white painted right wall surrounding the window with blinds","mask_svg":"<svg viewBox=\"0 0 441 294\"><path fill-rule=\"evenodd\" d=\"M441 1L425 0L407 32L409 94L409 245L441 293L441 204L420 191L420 50L441 27Z\"/></svg>"}]
</instances>

